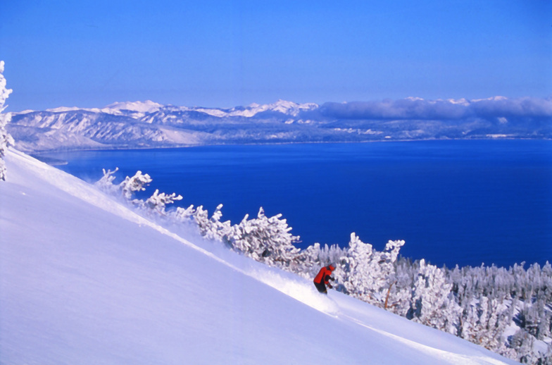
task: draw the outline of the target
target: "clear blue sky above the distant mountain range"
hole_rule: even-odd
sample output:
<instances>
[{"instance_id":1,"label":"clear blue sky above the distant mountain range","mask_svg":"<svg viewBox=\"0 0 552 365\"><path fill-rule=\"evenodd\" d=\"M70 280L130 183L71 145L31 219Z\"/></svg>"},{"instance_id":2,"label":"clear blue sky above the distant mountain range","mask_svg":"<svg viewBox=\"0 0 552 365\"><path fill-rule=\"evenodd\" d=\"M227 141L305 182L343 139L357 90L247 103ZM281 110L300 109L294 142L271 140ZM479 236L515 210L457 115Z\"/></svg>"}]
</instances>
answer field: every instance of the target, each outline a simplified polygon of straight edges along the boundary
<instances>
[{"instance_id":1,"label":"clear blue sky above the distant mountain range","mask_svg":"<svg viewBox=\"0 0 552 365\"><path fill-rule=\"evenodd\" d=\"M8 111L552 95L552 1L0 4Z\"/></svg>"}]
</instances>

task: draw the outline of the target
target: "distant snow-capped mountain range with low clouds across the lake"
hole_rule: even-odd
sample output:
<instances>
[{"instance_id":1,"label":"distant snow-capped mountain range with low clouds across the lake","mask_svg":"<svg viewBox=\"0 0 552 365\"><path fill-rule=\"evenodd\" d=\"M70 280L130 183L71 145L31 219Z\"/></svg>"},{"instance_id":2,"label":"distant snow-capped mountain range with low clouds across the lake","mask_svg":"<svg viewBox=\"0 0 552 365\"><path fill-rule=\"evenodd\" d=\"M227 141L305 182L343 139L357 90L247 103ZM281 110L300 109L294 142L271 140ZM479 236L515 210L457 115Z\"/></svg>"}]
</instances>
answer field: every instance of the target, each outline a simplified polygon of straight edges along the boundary
<instances>
[{"instance_id":1,"label":"distant snow-capped mountain range with low clouds across the lake","mask_svg":"<svg viewBox=\"0 0 552 365\"><path fill-rule=\"evenodd\" d=\"M202 144L552 138L552 98L327 102L279 100L232 109L120 102L102 109L14 113L22 151Z\"/></svg>"}]
</instances>

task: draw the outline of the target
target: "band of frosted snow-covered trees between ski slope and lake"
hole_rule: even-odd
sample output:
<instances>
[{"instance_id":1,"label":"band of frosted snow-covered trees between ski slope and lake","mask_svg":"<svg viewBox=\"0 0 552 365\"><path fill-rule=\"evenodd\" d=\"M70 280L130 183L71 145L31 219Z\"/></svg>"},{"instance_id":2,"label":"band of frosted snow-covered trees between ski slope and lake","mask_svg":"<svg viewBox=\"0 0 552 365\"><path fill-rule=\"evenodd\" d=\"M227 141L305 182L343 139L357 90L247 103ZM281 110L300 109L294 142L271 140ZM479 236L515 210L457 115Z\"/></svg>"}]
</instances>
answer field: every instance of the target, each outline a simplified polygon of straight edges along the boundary
<instances>
[{"instance_id":1,"label":"band of frosted snow-covered trees between ski slope and lake","mask_svg":"<svg viewBox=\"0 0 552 365\"><path fill-rule=\"evenodd\" d=\"M403 240L387 242L377 251L351 233L348 247L315 243L298 249L299 236L281 214L267 217L263 208L256 218L245 216L232 225L222 221L222 204L211 216L203 206L166 206L182 199L156 190L149 199L135 199L151 182L138 171L114 185L115 171L103 171L96 182L147 216L172 224L195 225L208 240L270 266L314 278L322 266L334 264L334 287L377 307L431 326L491 349L525 364L552 365L552 266L546 263L511 268L480 266L438 268L424 259L400 256Z\"/></svg>"}]
</instances>

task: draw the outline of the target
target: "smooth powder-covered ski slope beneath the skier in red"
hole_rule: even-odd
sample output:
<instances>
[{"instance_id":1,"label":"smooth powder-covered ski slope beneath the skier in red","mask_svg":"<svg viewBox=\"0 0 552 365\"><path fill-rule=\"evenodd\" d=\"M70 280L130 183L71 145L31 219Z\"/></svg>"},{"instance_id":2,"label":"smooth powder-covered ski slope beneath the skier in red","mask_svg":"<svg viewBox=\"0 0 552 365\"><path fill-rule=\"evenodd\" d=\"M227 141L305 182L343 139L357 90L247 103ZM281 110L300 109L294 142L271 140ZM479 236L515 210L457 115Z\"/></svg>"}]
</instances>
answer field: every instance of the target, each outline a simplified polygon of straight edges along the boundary
<instances>
[{"instance_id":1,"label":"smooth powder-covered ski slope beneath the skier in red","mask_svg":"<svg viewBox=\"0 0 552 365\"><path fill-rule=\"evenodd\" d=\"M0 364L516 364L6 157Z\"/></svg>"}]
</instances>

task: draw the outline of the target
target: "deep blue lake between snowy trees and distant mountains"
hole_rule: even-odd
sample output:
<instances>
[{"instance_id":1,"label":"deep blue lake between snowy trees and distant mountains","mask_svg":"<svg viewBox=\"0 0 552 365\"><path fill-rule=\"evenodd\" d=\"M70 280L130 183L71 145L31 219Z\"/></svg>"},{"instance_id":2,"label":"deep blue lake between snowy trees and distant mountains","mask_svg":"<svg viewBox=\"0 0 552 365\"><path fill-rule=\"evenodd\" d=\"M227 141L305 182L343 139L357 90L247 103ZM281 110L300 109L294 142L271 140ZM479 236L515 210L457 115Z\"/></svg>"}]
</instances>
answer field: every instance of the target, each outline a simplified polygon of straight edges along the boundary
<instances>
[{"instance_id":1,"label":"deep blue lake between snowy trees and distant mountains","mask_svg":"<svg viewBox=\"0 0 552 365\"><path fill-rule=\"evenodd\" d=\"M426 141L283 144L49 156L63 170L98 180L137 170L182 206L222 203L238 223L263 206L282 213L299 247L337 243L355 232L383 249L441 266L552 261L552 141Z\"/></svg>"}]
</instances>

